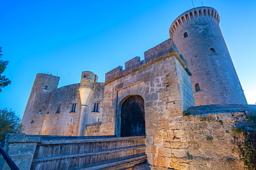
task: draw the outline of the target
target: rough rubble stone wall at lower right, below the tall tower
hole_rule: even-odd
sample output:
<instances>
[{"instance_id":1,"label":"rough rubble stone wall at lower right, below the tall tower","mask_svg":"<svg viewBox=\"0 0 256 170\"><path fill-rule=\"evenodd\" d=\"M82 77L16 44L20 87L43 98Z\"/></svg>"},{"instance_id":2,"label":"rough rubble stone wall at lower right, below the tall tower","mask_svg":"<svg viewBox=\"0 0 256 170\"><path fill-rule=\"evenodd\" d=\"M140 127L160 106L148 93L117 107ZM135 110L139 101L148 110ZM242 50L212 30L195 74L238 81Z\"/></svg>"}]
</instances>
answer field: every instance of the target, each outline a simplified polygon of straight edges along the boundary
<instances>
[{"instance_id":1,"label":"rough rubble stone wall at lower right, below the tall tower","mask_svg":"<svg viewBox=\"0 0 256 170\"><path fill-rule=\"evenodd\" d=\"M228 107L228 106L227 106ZM234 108L233 108L234 109ZM233 129L251 129L252 121L246 114L254 111L237 111L196 114L169 119L167 127L159 131L157 138L147 138L147 147L153 152L154 169L244 169L240 162L237 142L242 134Z\"/></svg>"}]
</instances>

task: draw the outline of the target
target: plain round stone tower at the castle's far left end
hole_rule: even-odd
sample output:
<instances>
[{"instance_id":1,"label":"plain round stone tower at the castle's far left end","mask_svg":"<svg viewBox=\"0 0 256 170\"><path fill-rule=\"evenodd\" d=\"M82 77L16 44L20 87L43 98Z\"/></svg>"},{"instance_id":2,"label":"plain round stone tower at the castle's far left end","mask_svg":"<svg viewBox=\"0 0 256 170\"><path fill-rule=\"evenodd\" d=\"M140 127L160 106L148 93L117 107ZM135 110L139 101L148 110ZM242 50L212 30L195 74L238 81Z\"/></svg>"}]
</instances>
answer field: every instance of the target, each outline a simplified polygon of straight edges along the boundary
<instances>
[{"instance_id":1,"label":"plain round stone tower at the castle's far left end","mask_svg":"<svg viewBox=\"0 0 256 170\"><path fill-rule=\"evenodd\" d=\"M59 81L60 77L51 74L37 74L21 121L22 133L41 134L44 118L48 112L50 94L57 89Z\"/></svg>"}]
</instances>

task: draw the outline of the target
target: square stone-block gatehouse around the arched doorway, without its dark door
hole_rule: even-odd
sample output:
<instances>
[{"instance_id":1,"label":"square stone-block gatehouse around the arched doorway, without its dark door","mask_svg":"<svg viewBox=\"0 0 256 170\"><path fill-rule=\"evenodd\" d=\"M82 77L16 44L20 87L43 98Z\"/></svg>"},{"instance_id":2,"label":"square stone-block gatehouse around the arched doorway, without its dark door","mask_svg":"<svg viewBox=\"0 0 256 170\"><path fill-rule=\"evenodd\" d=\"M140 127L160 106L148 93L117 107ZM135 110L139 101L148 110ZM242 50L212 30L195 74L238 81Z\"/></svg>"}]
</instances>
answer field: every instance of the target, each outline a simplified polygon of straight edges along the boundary
<instances>
[{"instance_id":1,"label":"square stone-block gatehouse around the arched doorway, without its dark door","mask_svg":"<svg viewBox=\"0 0 256 170\"><path fill-rule=\"evenodd\" d=\"M185 109L194 106L190 71L185 60L168 42L171 41L167 40L145 52L144 61L136 57L126 63L125 70L117 68L106 74L109 81L104 83L104 110L100 127L100 135L120 136L121 117L124 114L122 104L130 96L141 96L145 102L147 161L152 167L163 168L167 160L164 165L161 160L171 155L172 151L163 148L160 153L162 157L157 157L154 144L159 136L172 138L174 131L170 129L170 120L183 116ZM182 135L182 131L179 135ZM180 157L184 153L180 153Z\"/></svg>"}]
</instances>

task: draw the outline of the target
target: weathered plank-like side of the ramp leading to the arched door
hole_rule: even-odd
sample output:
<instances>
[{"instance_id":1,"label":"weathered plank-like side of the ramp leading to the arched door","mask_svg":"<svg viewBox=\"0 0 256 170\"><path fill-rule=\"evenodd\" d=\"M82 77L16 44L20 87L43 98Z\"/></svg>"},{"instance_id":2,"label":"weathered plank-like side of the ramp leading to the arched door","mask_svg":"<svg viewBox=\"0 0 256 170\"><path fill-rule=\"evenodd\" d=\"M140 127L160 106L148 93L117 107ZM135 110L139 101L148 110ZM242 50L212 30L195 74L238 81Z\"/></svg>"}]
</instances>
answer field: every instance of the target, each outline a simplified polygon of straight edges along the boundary
<instances>
[{"instance_id":1,"label":"weathered plank-like side of the ramp leading to the arched door","mask_svg":"<svg viewBox=\"0 0 256 170\"><path fill-rule=\"evenodd\" d=\"M145 136L41 140L31 170L131 169L146 160Z\"/></svg>"}]
</instances>

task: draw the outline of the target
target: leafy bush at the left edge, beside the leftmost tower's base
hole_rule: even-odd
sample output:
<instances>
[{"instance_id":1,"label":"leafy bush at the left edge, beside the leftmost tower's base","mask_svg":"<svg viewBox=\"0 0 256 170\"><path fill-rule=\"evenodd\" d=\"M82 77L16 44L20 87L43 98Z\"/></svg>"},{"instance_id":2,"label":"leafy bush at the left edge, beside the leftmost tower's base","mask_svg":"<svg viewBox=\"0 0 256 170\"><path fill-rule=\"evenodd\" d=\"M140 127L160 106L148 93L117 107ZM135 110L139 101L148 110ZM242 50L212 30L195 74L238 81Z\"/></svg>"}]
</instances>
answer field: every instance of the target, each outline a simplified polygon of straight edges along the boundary
<instances>
[{"instance_id":1,"label":"leafy bush at the left edge, beside the leftmost tower's base","mask_svg":"<svg viewBox=\"0 0 256 170\"><path fill-rule=\"evenodd\" d=\"M12 109L0 109L0 142L4 141L6 133L19 133L21 131L21 118Z\"/></svg>"}]
</instances>

